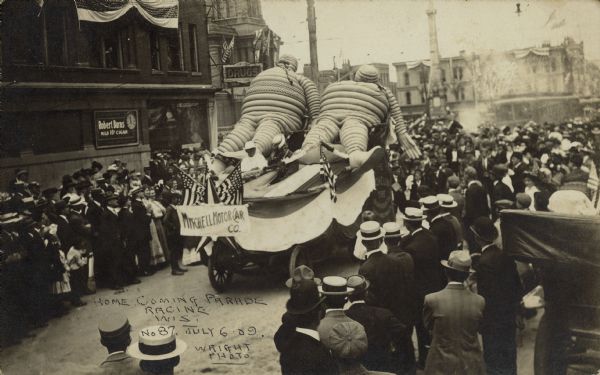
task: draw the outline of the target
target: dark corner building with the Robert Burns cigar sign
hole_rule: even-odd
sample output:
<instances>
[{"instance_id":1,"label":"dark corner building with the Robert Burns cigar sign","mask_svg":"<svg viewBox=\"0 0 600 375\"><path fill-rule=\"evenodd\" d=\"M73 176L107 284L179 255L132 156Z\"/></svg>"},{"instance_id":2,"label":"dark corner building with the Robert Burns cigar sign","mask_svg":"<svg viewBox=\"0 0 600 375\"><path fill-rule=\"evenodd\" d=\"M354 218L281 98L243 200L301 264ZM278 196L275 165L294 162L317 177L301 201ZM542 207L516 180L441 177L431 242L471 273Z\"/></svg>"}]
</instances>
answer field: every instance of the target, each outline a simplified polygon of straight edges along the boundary
<instances>
[{"instance_id":1,"label":"dark corner building with the Robert Burns cigar sign","mask_svg":"<svg viewBox=\"0 0 600 375\"><path fill-rule=\"evenodd\" d=\"M99 23L70 0L36 3L2 3L2 181L27 168L53 186L92 160L140 171L151 150L211 146L203 2L181 1L177 28L135 8Z\"/></svg>"}]
</instances>

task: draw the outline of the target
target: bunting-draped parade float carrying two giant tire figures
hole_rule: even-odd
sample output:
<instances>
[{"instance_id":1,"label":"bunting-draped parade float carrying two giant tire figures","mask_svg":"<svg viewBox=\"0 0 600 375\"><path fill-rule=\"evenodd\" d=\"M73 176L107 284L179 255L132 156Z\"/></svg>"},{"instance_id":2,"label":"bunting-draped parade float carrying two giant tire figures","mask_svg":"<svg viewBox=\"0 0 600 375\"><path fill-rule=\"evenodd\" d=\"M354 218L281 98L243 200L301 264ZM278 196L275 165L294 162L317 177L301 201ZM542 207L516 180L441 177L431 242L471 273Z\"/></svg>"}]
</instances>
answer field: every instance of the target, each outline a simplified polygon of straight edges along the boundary
<instances>
[{"instance_id":1,"label":"bunting-draped parade float carrying two giant tire figures","mask_svg":"<svg viewBox=\"0 0 600 375\"><path fill-rule=\"evenodd\" d=\"M376 180L391 186L386 144L396 136L410 156L420 154L407 135L397 102L376 83L373 70L363 69L370 74L370 82L330 85L323 93L318 116L302 111L303 104L309 104L306 111L318 108L319 102L310 90L304 91L310 95L302 102L301 91L292 89L295 81L291 78L296 77L292 71L286 70L282 78L283 69L273 68L255 78L243 108L258 117L244 112L219 145L217 189L246 156L240 150L244 142L254 141L257 151L268 155L271 140L282 135L293 154L252 178L244 178L241 203L247 216L241 215L244 219L234 223L234 229L238 225L235 233L210 233L213 241L202 251L209 280L217 291L225 290L236 273L282 269L281 259L291 274L298 265L331 256L335 247L354 240ZM259 88L254 89L255 84ZM270 93L265 96L264 92ZM285 99L277 99L275 92ZM298 121L309 115L315 121L307 129ZM296 141L292 142L293 138Z\"/></svg>"}]
</instances>

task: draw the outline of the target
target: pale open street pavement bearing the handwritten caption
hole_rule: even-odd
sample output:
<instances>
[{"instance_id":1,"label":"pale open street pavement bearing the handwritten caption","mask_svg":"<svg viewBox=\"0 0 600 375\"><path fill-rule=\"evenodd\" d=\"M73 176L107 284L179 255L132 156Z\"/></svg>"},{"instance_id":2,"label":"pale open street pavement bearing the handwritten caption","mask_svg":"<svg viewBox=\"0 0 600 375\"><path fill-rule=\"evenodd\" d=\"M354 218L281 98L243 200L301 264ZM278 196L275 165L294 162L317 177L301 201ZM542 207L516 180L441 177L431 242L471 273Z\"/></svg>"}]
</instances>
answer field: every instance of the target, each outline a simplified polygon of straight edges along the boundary
<instances>
[{"instance_id":1,"label":"pale open street pavement bearing the handwritten caption","mask_svg":"<svg viewBox=\"0 0 600 375\"><path fill-rule=\"evenodd\" d=\"M175 374L279 374L273 335L285 311L285 277L234 277L229 291L217 294L204 266L189 267L183 276L168 269L142 279L122 293L100 290L84 298L87 306L72 309L33 338L0 352L4 375L86 374L97 372L106 357L97 324L106 314L124 313L132 338L145 326L172 327L188 344ZM316 266L318 276L355 274L358 263L340 255ZM533 374L537 318L518 338L520 375ZM416 339L415 339L416 340Z\"/></svg>"}]
</instances>

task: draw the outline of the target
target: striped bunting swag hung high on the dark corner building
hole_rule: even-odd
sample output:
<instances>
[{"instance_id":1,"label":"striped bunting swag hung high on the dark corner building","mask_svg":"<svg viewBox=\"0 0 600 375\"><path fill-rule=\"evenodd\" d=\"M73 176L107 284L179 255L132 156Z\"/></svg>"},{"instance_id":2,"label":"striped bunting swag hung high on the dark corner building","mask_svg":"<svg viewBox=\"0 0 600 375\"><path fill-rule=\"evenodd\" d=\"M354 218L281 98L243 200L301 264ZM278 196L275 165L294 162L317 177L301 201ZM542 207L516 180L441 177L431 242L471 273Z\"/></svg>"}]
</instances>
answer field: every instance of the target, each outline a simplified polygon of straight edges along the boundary
<instances>
[{"instance_id":1,"label":"striped bunting swag hung high on the dark corner building","mask_svg":"<svg viewBox=\"0 0 600 375\"><path fill-rule=\"evenodd\" d=\"M110 22L136 8L156 26L178 27L179 0L75 0L75 6L80 21Z\"/></svg>"}]
</instances>

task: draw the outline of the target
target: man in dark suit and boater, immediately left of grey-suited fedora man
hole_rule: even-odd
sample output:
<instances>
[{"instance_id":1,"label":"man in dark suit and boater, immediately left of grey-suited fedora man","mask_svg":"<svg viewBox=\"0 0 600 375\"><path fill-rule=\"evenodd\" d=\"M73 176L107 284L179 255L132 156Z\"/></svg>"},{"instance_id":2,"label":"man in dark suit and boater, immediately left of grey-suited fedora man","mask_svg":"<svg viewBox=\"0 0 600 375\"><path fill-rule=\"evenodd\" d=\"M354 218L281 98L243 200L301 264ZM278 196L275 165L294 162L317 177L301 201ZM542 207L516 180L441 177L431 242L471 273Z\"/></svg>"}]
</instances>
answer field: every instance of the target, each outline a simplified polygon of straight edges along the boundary
<instances>
[{"instance_id":1,"label":"man in dark suit and boater, immediately left of grey-suited fedora man","mask_svg":"<svg viewBox=\"0 0 600 375\"><path fill-rule=\"evenodd\" d=\"M437 239L429 230L422 227L426 219L419 208L407 207L403 215L404 225L409 230L402 241L402 248L413 259L415 264L415 284L417 293L418 311L423 306L423 298L429 293L437 292L444 287L442 270L440 266L440 251ZM417 319L415 326L419 343L419 365L425 365L427 348L431 342L429 333L423 326L423 320Z\"/></svg>"}]
</instances>

